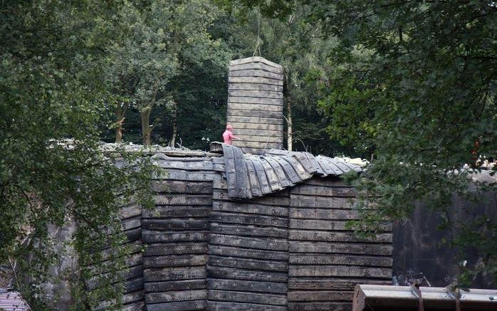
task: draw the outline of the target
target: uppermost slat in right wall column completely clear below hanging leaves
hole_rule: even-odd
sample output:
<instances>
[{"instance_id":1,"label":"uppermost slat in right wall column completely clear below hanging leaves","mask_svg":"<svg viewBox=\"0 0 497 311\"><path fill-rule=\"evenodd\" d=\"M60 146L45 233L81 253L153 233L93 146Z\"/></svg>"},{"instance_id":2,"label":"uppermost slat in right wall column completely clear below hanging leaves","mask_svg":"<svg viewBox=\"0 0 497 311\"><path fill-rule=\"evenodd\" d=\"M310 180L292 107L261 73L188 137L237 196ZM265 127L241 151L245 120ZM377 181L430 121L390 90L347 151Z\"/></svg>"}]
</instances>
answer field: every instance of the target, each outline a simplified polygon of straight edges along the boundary
<instances>
[{"instance_id":1,"label":"uppermost slat in right wall column completely clear below hanging leaves","mask_svg":"<svg viewBox=\"0 0 497 311\"><path fill-rule=\"evenodd\" d=\"M300 242L290 243L291 253L349 253L364 255L392 255L392 245L366 243Z\"/></svg>"}]
</instances>

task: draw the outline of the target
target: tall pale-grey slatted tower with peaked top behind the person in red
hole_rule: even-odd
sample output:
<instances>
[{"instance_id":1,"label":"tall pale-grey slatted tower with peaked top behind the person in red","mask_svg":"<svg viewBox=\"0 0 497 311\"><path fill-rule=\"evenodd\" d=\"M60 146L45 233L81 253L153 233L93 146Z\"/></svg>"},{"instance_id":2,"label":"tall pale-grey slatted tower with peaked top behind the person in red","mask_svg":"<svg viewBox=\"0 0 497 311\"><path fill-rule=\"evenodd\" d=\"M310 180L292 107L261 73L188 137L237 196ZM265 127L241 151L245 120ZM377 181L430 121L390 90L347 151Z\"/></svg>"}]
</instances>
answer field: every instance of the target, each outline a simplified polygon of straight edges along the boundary
<instances>
[{"instance_id":1,"label":"tall pale-grey slatted tower with peaked top behind the person in red","mask_svg":"<svg viewBox=\"0 0 497 311\"><path fill-rule=\"evenodd\" d=\"M283 68L261 57L231 60L226 120L240 137L234 145L262 154L283 148Z\"/></svg>"}]
</instances>

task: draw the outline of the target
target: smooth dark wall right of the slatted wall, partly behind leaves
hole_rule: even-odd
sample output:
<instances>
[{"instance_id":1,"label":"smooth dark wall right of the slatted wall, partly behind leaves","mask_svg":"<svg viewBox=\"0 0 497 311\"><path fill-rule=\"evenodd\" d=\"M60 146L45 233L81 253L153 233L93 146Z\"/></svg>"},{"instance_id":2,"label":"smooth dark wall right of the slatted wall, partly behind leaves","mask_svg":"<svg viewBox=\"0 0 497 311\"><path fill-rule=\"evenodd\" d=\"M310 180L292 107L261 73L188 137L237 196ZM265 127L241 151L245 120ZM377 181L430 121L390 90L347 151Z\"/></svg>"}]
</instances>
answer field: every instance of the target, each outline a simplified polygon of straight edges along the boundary
<instances>
[{"instance_id":1,"label":"smooth dark wall right of the slatted wall, partly behind leaves","mask_svg":"<svg viewBox=\"0 0 497 311\"><path fill-rule=\"evenodd\" d=\"M478 216L487 216L497 221L497 191L482 195L478 202L469 202L459 196L453 196L455 221L471 221ZM442 238L449 238L447 231L439 231L436 227L440 217L427 209L424 204L417 203L414 214L408 221L394 223L394 265L392 269L393 283L409 285L412 280L422 282L422 286L444 287L452 282L458 268L454 263L457 253L453 249L441 246ZM468 265L481 260L475 250L469 250ZM474 280L474 288L497 288L491 284L491 278L478 276Z\"/></svg>"}]
</instances>

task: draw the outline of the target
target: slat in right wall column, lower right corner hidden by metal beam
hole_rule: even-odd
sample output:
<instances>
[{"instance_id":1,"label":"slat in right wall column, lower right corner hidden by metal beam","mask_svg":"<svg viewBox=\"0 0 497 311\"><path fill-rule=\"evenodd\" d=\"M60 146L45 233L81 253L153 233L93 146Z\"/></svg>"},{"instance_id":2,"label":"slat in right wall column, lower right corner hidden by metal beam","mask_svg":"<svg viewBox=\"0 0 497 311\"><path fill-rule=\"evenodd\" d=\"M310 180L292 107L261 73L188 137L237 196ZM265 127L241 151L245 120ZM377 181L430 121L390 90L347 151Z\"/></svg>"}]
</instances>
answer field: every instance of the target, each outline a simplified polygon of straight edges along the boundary
<instances>
[{"instance_id":1,"label":"slat in right wall column, lower right corner hidden by metal beam","mask_svg":"<svg viewBox=\"0 0 497 311\"><path fill-rule=\"evenodd\" d=\"M288 278L288 290L354 290L357 284L391 285L391 280L367 278Z\"/></svg>"}]
</instances>

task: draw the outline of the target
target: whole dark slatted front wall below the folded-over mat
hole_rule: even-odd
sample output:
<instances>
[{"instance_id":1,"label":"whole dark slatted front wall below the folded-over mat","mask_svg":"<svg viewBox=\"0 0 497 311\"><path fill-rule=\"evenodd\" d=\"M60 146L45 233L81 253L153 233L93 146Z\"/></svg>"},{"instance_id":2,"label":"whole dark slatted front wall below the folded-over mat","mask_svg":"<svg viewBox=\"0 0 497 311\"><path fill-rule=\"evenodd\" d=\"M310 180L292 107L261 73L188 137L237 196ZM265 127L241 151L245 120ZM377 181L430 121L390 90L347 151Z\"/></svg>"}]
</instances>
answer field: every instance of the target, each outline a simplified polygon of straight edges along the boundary
<instances>
[{"instance_id":1,"label":"whole dark slatted front wall below the folded-over mat","mask_svg":"<svg viewBox=\"0 0 497 311\"><path fill-rule=\"evenodd\" d=\"M159 166L155 209L121 210L135 250L124 310L350 310L356 284L390 283L392 227L348 231L355 190L338 177L235 200L222 158Z\"/></svg>"}]
</instances>

